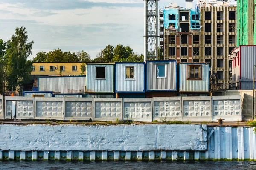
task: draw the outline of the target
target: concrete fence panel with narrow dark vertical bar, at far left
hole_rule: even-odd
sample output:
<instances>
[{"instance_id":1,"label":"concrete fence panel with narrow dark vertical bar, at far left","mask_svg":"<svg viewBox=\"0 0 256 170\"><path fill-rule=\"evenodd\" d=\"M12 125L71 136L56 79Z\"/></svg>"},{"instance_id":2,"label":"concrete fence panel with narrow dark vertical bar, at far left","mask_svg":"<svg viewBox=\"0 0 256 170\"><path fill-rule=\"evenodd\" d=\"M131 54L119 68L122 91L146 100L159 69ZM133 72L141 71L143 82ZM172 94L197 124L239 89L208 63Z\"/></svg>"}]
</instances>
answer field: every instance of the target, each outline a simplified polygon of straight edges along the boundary
<instances>
[{"instance_id":1,"label":"concrete fence panel with narrow dark vertical bar, at far left","mask_svg":"<svg viewBox=\"0 0 256 170\"><path fill-rule=\"evenodd\" d=\"M33 97L5 97L5 118L33 119L35 115Z\"/></svg>"}]
</instances>

